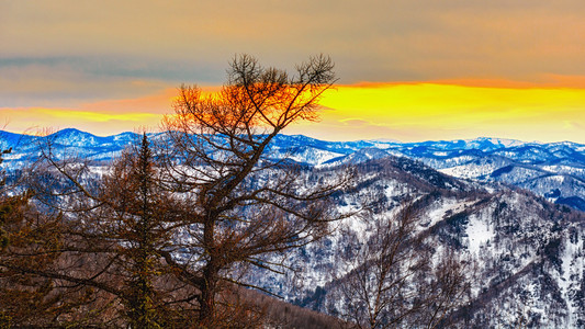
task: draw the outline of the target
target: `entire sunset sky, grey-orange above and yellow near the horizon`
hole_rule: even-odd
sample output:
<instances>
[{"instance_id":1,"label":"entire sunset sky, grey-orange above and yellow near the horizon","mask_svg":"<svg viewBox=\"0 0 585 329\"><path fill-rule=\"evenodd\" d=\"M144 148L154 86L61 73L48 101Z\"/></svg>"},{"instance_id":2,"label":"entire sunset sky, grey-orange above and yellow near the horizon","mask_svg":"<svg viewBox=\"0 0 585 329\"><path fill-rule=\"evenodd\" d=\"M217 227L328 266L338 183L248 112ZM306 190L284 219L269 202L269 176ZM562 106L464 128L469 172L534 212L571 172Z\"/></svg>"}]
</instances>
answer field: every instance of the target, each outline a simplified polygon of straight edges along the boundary
<instances>
[{"instance_id":1,"label":"entire sunset sky, grey-orange above and yellow near the horizon","mask_svg":"<svg viewBox=\"0 0 585 329\"><path fill-rule=\"evenodd\" d=\"M582 0L0 0L0 123L11 132L157 129L181 83L216 90L250 54L339 78L327 140L585 143Z\"/></svg>"}]
</instances>

